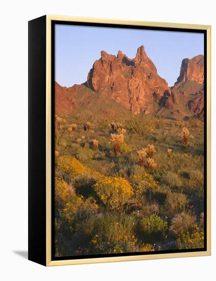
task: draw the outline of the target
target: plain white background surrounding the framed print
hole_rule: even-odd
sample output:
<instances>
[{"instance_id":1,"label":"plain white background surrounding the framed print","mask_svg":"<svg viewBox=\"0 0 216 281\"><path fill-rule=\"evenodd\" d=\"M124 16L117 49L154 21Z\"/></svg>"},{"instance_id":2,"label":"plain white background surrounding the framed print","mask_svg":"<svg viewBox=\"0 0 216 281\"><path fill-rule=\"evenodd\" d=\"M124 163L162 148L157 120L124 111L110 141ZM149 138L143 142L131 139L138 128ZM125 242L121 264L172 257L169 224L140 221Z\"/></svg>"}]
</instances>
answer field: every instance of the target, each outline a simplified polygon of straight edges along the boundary
<instances>
[{"instance_id":1,"label":"plain white background surrounding the framed print","mask_svg":"<svg viewBox=\"0 0 216 281\"><path fill-rule=\"evenodd\" d=\"M215 8L211 0L2 1L0 4L0 278L215 280ZM44 14L212 25L212 256L45 268L27 255L28 20ZM165 44L165 42L164 42ZM21 255L20 255L21 253Z\"/></svg>"}]
</instances>

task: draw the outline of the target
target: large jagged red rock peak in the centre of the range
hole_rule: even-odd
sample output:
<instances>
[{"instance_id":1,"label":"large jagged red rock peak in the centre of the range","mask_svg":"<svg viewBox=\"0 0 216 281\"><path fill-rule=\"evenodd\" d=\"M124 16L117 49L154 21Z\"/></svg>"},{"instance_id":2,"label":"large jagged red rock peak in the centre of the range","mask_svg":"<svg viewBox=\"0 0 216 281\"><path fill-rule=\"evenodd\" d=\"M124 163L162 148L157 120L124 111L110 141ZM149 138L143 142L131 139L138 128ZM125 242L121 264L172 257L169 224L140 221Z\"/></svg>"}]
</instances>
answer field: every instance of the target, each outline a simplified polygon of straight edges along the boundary
<instances>
[{"instance_id":1,"label":"large jagged red rock peak in the centre of the range","mask_svg":"<svg viewBox=\"0 0 216 281\"><path fill-rule=\"evenodd\" d=\"M85 83L93 91L103 92L137 114L154 110L154 98L159 102L167 82L157 74L154 63L148 58L144 46L137 49L134 59L121 51L117 56L101 52L94 62Z\"/></svg>"}]
</instances>

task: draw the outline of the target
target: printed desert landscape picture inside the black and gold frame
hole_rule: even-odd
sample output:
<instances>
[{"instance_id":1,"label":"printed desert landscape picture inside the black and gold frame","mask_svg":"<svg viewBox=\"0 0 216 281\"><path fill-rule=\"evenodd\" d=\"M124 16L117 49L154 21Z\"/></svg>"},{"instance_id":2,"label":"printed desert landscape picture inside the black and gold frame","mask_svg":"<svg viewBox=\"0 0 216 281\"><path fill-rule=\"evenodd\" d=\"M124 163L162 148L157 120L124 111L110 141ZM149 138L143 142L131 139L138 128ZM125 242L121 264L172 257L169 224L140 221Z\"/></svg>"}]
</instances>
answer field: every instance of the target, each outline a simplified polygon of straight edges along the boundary
<instances>
[{"instance_id":1,"label":"printed desert landscape picture inside the black and gold frame","mask_svg":"<svg viewBox=\"0 0 216 281\"><path fill-rule=\"evenodd\" d=\"M55 257L203 249L204 34L55 25Z\"/></svg>"}]
</instances>

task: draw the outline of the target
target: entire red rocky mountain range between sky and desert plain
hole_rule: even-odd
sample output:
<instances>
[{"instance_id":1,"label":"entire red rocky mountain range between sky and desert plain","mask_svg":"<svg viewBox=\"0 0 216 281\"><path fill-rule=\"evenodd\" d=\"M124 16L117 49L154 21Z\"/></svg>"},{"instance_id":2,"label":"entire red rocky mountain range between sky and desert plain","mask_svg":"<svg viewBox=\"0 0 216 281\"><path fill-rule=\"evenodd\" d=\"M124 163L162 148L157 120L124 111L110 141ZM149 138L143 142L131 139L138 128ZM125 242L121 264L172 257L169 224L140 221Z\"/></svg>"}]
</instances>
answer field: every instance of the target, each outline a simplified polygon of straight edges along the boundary
<instances>
[{"instance_id":1,"label":"entire red rocky mountain range between sky and desert plain","mask_svg":"<svg viewBox=\"0 0 216 281\"><path fill-rule=\"evenodd\" d=\"M178 112L176 118L195 115L203 120L203 83L202 55L183 59L177 82L169 88L157 74L143 45L137 49L133 59L122 51L118 51L117 56L102 51L101 58L94 62L85 83L69 88L55 84L56 112L70 114L75 108L79 110L80 107L91 107L95 103L100 108L102 103L107 103L108 112L111 106L109 101L112 101L117 104L115 109L119 105L118 110L130 109L135 114L153 112L158 104L166 108L166 115L172 118L175 118L174 112Z\"/></svg>"}]
</instances>

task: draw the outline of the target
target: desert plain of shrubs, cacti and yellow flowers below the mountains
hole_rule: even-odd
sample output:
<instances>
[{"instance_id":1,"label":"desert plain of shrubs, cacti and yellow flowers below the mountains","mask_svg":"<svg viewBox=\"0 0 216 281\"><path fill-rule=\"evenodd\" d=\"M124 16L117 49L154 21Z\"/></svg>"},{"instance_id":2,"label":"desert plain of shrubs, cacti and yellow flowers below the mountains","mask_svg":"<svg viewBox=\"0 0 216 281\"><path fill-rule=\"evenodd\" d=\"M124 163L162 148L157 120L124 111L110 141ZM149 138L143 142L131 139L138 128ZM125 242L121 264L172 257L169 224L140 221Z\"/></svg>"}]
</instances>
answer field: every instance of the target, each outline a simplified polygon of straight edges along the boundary
<instances>
[{"instance_id":1,"label":"desert plain of shrubs, cacti and yellow flowers below the mountains","mask_svg":"<svg viewBox=\"0 0 216 281\"><path fill-rule=\"evenodd\" d=\"M55 255L204 247L203 123L55 116Z\"/></svg>"}]
</instances>

